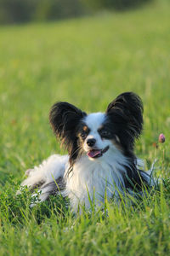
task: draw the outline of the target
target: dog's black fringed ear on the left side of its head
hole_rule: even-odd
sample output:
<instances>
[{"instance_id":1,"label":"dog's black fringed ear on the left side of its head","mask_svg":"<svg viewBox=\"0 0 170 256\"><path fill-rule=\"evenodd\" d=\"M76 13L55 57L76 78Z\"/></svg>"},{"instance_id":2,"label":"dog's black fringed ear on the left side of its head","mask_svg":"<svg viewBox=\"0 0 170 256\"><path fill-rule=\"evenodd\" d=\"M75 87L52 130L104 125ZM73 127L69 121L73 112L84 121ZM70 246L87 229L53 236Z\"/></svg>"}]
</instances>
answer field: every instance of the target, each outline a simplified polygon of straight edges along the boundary
<instances>
[{"instance_id":1,"label":"dog's black fringed ear on the left side of its head","mask_svg":"<svg viewBox=\"0 0 170 256\"><path fill-rule=\"evenodd\" d=\"M66 148L75 142L77 125L84 116L86 113L67 102L56 102L51 108L49 122Z\"/></svg>"}]
</instances>

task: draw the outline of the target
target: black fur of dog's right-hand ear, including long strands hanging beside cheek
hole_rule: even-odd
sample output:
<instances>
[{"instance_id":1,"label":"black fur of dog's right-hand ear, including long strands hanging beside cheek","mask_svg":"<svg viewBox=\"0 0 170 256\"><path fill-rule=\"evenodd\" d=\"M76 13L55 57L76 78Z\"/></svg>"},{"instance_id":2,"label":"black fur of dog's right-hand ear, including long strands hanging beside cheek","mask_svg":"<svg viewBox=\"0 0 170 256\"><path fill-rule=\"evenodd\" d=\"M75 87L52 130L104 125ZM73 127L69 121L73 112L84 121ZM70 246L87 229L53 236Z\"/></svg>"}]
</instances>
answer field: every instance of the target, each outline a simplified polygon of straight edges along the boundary
<instances>
[{"instance_id":1,"label":"black fur of dog's right-hand ear, including long strands hanging beside cheek","mask_svg":"<svg viewBox=\"0 0 170 256\"><path fill-rule=\"evenodd\" d=\"M124 154L133 156L134 140L143 129L143 104L139 96L133 92L122 93L109 104L106 115L107 125L120 139Z\"/></svg>"}]
</instances>

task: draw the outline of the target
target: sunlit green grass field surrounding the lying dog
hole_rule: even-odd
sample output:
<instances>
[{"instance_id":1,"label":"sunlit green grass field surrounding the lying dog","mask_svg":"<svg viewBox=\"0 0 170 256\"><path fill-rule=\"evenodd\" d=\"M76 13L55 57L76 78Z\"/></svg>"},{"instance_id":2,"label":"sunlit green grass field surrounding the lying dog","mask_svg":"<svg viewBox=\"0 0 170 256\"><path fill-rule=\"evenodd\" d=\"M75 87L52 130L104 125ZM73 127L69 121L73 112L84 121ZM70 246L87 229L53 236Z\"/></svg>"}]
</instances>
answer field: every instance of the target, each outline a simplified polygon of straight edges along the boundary
<instances>
[{"instance_id":1,"label":"sunlit green grass field surrounding the lying dog","mask_svg":"<svg viewBox=\"0 0 170 256\"><path fill-rule=\"evenodd\" d=\"M170 5L59 23L0 27L0 255L169 255ZM123 91L144 102L136 154L157 158L159 189L134 201L74 216L62 198L32 210L24 172L64 153L48 124L56 101L105 111ZM153 147L163 132L166 143ZM59 212L60 209L60 212Z\"/></svg>"}]
</instances>

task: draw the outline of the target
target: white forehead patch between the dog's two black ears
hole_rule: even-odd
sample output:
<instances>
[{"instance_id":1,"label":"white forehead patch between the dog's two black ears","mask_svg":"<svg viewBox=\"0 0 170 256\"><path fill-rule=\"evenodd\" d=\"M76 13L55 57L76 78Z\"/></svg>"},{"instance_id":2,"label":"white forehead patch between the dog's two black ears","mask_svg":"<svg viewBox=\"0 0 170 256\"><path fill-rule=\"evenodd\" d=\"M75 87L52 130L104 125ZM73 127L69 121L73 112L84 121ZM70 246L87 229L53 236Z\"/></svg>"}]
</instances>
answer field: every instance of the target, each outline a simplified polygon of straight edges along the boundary
<instances>
[{"instance_id":1,"label":"white forehead patch between the dog's two black ears","mask_svg":"<svg viewBox=\"0 0 170 256\"><path fill-rule=\"evenodd\" d=\"M91 131L97 131L105 121L105 113L90 113L84 121Z\"/></svg>"}]
</instances>

